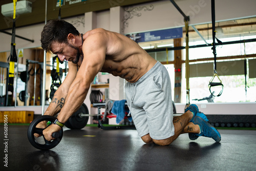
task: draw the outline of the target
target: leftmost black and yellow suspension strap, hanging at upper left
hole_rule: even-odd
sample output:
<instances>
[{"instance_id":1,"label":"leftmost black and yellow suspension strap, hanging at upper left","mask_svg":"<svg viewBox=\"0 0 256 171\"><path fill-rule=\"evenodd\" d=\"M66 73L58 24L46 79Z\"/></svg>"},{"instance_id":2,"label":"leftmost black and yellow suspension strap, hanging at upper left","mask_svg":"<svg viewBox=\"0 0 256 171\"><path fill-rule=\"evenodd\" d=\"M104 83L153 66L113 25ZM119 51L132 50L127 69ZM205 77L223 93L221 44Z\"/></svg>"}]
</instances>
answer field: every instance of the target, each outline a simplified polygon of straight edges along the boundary
<instances>
[{"instance_id":1,"label":"leftmost black and yellow suspension strap, hanging at upper left","mask_svg":"<svg viewBox=\"0 0 256 171\"><path fill-rule=\"evenodd\" d=\"M17 0L13 0L13 25L12 25L12 41L11 41L11 53L10 53L9 82L8 82L8 91L10 92L13 92L14 63L17 62L17 54L15 49L16 3L17 3Z\"/></svg>"}]
</instances>

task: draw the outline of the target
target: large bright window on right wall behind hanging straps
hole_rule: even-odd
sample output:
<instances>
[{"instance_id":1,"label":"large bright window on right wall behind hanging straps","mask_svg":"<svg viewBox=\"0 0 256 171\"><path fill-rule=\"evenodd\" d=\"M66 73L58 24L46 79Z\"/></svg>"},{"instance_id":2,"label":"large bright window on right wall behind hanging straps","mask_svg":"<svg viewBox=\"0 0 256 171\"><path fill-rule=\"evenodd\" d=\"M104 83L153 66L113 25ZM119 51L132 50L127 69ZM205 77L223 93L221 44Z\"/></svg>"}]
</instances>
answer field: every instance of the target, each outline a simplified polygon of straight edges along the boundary
<instances>
[{"instance_id":1,"label":"large bright window on right wall behind hanging straps","mask_svg":"<svg viewBox=\"0 0 256 171\"><path fill-rule=\"evenodd\" d=\"M251 39L256 36L245 37L232 37L223 38L223 42ZM200 45L202 41L191 42L191 45ZM190 45L190 46L191 46ZM232 44L217 46L217 59L221 57L222 60L217 60L217 72L224 85L224 90L221 96L214 97L214 102L255 102L256 101L256 73L255 61L256 61L256 42L246 42L244 44ZM245 50L244 50L245 48ZM185 50L183 51L185 57ZM250 55L250 57L244 59L244 54ZM254 56L255 54L255 56ZM208 89L209 81L214 74L214 61L207 60L207 58L213 58L212 50L210 47L193 48L189 49L189 59L194 60L190 62L190 103L198 102L198 100L210 96ZM197 59L205 59L199 60ZM246 89L245 89L245 74L244 74L244 62L246 62ZM183 68L185 65L183 65ZM184 71L184 69L183 69ZM251 74L250 74L251 73ZM185 77L182 79L182 102L186 98L186 84ZM221 91L220 86L212 88L215 91L215 95L218 95ZM193 100L198 99L198 100ZM208 102L207 99L199 102Z\"/></svg>"}]
</instances>

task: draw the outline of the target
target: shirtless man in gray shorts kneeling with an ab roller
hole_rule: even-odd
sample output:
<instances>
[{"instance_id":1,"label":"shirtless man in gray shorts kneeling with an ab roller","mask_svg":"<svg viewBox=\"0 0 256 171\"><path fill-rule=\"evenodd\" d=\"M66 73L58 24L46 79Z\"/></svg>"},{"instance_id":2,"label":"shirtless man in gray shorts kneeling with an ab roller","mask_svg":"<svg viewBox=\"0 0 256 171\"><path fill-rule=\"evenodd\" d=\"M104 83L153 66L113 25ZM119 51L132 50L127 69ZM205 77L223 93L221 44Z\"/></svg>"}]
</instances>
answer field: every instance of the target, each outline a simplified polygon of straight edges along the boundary
<instances>
[{"instance_id":1,"label":"shirtless man in gray shorts kneeling with an ab roller","mask_svg":"<svg viewBox=\"0 0 256 171\"><path fill-rule=\"evenodd\" d=\"M191 140L199 136L221 140L219 132L207 123L206 116L194 104L183 115L173 117L167 70L132 39L104 29L80 34L63 20L51 20L41 33L41 44L61 61L69 61L68 75L54 94L61 103L51 102L45 112L51 116L59 113L57 124L43 132L48 141L80 108L98 72L108 72L127 81L127 104L145 143L168 145L182 133L189 133Z\"/></svg>"}]
</instances>

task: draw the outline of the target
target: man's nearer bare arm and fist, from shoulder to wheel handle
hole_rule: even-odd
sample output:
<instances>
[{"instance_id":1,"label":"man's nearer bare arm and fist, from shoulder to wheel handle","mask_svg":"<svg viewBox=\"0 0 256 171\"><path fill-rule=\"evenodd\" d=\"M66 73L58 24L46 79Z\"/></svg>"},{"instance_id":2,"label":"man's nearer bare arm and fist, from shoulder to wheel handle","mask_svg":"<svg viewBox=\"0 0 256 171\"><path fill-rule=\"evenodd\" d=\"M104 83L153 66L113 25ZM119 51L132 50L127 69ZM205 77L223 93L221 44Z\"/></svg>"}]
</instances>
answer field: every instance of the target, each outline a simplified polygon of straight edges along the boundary
<instances>
[{"instance_id":1,"label":"man's nearer bare arm and fist, from shoulder to wheel handle","mask_svg":"<svg viewBox=\"0 0 256 171\"><path fill-rule=\"evenodd\" d=\"M65 105L62 106L57 117L58 121L65 123L82 105L88 94L91 82L101 70L105 62L107 38L101 33L90 35L83 44L83 61L76 78L69 88ZM60 131L60 126L52 124L44 130L45 138L50 141L52 133Z\"/></svg>"}]
</instances>

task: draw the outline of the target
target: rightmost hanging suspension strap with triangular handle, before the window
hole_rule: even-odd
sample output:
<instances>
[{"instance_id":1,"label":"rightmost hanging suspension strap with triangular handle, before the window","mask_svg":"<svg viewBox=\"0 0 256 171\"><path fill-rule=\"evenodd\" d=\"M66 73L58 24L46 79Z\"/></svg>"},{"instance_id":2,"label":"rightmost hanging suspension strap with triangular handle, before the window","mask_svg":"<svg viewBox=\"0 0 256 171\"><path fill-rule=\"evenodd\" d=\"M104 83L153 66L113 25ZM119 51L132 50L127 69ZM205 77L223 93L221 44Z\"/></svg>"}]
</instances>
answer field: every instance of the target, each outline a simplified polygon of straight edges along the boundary
<instances>
[{"instance_id":1,"label":"rightmost hanging suspension strap with triangular handle, before the window","mask_svg":"<svg viewBox=\"0 0 256 171\"><path fill-rule=\"evenodd\" d=\"M217 39L215 37L216 31L215 31L215 0L211 0L211 23L212 23L212 53L214 53L214 76L212 76L212 78L210 79L210 82L208 84L209 87L209 91L211 93L212 96L215 96L214 94L212 94L211 92L211 87L216 87L216 86L221 86L222 90L220 91L220 93L217 96L220 96L222 94L223 91L223 84L221 82L221 79L219 78L218 74L217 74L217 54L216 54L216 44L215 44L215 39ZM222 44L222 42L217 39L217 41ZM214 80L214 78L217 76L217 78L219 79L220 82L212 82Z\"/></svg>"}]
</instances>

